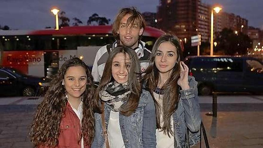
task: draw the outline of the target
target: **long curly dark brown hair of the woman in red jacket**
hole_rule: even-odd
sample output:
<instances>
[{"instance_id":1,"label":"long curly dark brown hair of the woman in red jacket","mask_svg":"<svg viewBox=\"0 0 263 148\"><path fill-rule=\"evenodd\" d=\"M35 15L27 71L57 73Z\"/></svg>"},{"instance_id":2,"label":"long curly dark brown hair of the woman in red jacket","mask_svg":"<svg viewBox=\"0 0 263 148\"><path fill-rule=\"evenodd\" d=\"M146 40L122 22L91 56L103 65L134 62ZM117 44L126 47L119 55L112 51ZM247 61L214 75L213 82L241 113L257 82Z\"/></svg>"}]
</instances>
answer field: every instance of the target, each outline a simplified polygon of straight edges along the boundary
<instances>
[{"instance_id":1,"label":"long curly dark brown hair of the woman in red jacket","mask_svg":"<svg viewBox=\"0 0 263 148\"><path fill-rule=\"evenodd\" d=\"M64 117L67 99L65 98L66 90L62 85L65 73L69 67L82 66L87 74L86 89L82 94L83 101L83 118L81 122L81 133L88 145L91 145L94 138L94 110L98 109L98 103L93 99L94 86L93 77L88 66L79 58L72 58L66 61L58 73L53 77L51 85L44 96L44 100L37 107L36 115L30 129L31 142L37 147L45 145L47 147L56 147L60 134L60 122Z\"/></svg>"}]
</instances>

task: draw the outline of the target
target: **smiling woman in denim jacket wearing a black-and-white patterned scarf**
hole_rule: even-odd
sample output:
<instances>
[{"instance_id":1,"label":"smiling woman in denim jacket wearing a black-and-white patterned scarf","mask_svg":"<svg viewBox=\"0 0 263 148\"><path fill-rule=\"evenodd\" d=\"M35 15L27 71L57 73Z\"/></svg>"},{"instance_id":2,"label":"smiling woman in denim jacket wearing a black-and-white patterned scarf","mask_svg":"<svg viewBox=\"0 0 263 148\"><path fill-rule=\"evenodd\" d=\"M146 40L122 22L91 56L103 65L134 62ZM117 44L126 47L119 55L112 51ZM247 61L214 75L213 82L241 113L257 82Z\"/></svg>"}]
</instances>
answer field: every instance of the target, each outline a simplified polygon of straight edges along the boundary
<instances>
[{"instance_id":1,"label":"smiling woman in denim jacket wearing a black-and-white patterned scarf","mask_svg":"<svg viewBox=\"0 0 263 148\"><path fill-rule=\"evenodd\" d=\"M114 48L96 92L103 113L95 114L92 148L156 147L155 105L139 79L140 63L134 50Z\"/></svg>"}]
</instances>

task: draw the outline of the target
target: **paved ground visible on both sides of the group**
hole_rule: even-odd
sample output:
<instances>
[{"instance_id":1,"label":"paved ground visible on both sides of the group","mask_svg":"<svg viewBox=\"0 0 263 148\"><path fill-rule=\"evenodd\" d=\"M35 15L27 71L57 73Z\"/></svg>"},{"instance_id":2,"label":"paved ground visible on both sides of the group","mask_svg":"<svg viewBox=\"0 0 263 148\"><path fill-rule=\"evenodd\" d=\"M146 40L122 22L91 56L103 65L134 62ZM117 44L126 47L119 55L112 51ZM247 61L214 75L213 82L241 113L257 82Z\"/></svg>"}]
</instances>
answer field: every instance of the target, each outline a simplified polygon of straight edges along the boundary
<instances>
[{"instance_id":1,"label":"paved ground visible on both sides of the group","mask_svg":"<svg viewBox=\"0 0 263 148\"><path fill-rule=\"evenodd\" d=\"M31 148L28 128L42 98L0 98L0 147ZM200 97L201 114L211 148L263 148L263 96L219 96L218 117L212 97ZM204 147L204 145L203 145Z\"/></svg>"}]
</instances>

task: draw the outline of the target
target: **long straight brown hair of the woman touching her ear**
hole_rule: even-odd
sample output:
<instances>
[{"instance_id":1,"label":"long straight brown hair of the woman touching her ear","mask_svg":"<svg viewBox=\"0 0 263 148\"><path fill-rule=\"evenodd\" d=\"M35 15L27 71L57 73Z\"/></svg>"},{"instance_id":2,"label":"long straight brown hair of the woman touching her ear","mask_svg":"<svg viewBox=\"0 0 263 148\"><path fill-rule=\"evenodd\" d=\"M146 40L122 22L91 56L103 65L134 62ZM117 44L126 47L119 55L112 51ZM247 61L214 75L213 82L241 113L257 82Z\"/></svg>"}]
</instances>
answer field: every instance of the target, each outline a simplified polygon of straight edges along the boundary
<instances>
[{"instance_id":1,"label":"long straight brown hair of the woman touching her ear","mask_svg":"<svg viewBox=\"0 0 263 148\"><path fill-rule=\"evenodd\" d=\"M157 122L157 128L161 129L164 134L170 136L169 134L174 135L171 129L171 115L175 110L177 109L177 104L179 101L179 86L177 84L177 81L180 77L180 61L181 61L181 53L182 53L182 48L181 48L181 43L179 39L174 36L174 35L163 35L160 36L153 48L152 48L152 54L151 57L149 58L149 66L144 72L144 76L142 78L142 82L146 82L146 89L149 89L149 91L152 93L154 90L157 88L158 83L160 82L160 74L158 71L158 68L155 65L155 56L157 54L157 50L160 46L161 43L163 42L170 42L172 45L175 46L176 53L177 53L177 60L176 64L172 69L171 74L169 75L168 80L164 83L162 89L164 89L164 94L163 94L163 108L162 108L162 113L163 113L163 127L160 127L160 106L158 105L156 98L155 100L155 107L156 107L156 122Z\"/></svg>"}]
</instances>

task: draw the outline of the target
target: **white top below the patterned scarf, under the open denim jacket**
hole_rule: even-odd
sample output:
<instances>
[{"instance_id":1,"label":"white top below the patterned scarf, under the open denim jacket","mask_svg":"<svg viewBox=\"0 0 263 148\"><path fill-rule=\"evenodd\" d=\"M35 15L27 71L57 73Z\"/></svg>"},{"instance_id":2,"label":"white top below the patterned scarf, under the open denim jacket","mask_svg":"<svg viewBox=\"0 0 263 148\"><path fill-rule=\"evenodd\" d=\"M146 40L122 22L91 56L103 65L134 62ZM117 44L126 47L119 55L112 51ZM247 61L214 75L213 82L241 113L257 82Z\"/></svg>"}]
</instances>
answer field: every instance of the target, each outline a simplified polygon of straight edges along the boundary
<instances>
[{"instance_id":1,"label":"white top below the patterned scarf, under the open denim jacket","mask_svg":"<svg viewBox=\"0 0 263 148\"><path fill-rule=\"evenodd\" d=\"M110 148L125 148L120 131L119 112L110 113L108 123L108 140Z\"/></svg>"}]
</instances>

